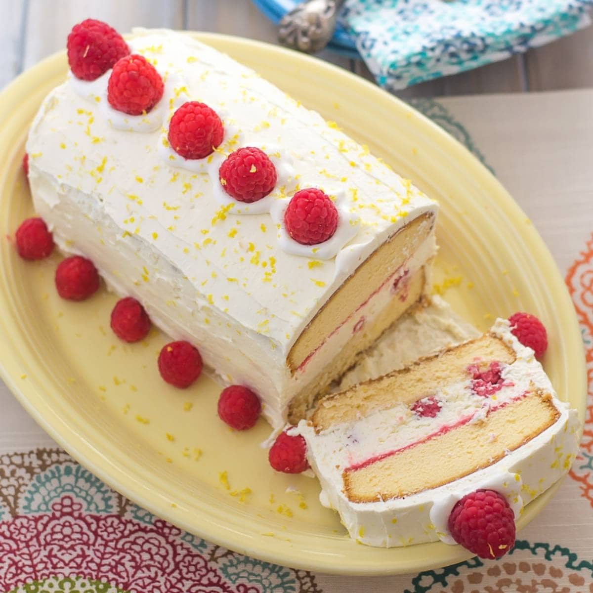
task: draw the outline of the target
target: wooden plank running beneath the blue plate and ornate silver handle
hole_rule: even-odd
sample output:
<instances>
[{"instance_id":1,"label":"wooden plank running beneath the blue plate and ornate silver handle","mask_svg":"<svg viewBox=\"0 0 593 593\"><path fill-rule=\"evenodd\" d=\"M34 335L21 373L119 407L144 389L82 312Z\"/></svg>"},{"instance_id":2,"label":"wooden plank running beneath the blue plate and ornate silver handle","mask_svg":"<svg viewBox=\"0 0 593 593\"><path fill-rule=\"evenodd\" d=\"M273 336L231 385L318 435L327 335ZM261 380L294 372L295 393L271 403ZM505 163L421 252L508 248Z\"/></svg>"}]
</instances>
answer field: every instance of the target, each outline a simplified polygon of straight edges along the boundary
<instances>
[{"instance_id":1,"label":"wooden plank running beneath the blue plate and ornate silver handle","mask_svg":"<svg viewBox=\"0 0 593 593\"><path fill-rule=\"evenodd\" d=\"M278 44L276 25L248 0L189 0L186 27ZM350 69L350 60L334 52L326 50L317 57Z\"/></svg>"}]
</instances>

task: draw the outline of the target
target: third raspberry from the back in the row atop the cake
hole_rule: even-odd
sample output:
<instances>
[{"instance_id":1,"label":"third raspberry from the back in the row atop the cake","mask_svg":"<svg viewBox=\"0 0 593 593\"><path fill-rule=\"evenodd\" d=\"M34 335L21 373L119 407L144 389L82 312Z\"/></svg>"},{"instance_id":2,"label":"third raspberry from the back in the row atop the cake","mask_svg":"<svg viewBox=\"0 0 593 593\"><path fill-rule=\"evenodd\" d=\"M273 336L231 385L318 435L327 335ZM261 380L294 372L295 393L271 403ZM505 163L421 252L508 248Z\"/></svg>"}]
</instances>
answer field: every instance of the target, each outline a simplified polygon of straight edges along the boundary
<instances>
[{"instance_id":1,"label":"third raspberry from the back in the row atop the cake","mask_svg":"<svg viewBox=\"0 0 593 593\"><path fill-rule=\"evenodd\" d=\"M204 158L222 144L224 127L216 111L198 101L187 101L171 117L168 139L183 158Z\"/></svg>"}]
</instances>

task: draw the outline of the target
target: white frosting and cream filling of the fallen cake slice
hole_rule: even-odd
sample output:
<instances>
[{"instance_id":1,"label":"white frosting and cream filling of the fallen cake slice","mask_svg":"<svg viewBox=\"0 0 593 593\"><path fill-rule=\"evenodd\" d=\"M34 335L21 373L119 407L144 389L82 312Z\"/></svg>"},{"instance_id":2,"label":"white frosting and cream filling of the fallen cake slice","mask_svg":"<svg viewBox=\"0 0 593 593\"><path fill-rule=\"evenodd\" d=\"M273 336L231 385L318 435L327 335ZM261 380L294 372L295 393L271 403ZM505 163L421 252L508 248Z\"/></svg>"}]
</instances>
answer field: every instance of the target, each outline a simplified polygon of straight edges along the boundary
<instances>
[{"instance_id":1,"label":"white frosting and cream filling of the fallen cake slice","mask_svg":"<svg viewBox=\"0 0 593 593\"><path fill-rule=\"evenodd\" d=\"M321 503L339 512L351 537L361 543L381 547L436 540L454 543L448 533L447 520L455 502L467 493L482 488L496 490L506 497L515 517L518 517L525 504L569 470L578 451L579 420L576 411L569 410L566 404L557 400L547 375L534 358L533 350L518 342L509 329L508 321L497 320L492 331L515 350L516 360L502 371L501 376L508 387L496 393L497 400L490 403L496 405L519 397L532 382L535 387L552 394L554 406L560 412L559 419L552 426L492 466L405 498L353 503L343 492L343 469L373 453L377 454L377 447L386 451L396 449L406 441L415 442L422 435L431 433L434 428L431 428L432 422L436 419L419 419L415 422L415 431L390 432L387 425L397 426L400 416L409 411L402 409L392 413L384 410L358 422L332 427L318 435L307 422L299 423L297 430L307 441L311 467L321 482ZM447 423L447 419L452 421L467 411L476 412L467 390L463 394L463 385L451 385L448 390L453 394L460 393L460 396L453 398L452 405L444 402L441 413L445 413L445 421L439 423ZM479 403L478 400L476 402ZM485 401L483 403L488 405ZM486 407L482 407L482 411L485 415ZM441 417L441 413L437 418ZM479 417L479 412L475 417ZM343 445L351 434L362 443L360 451L358 442L352 447L356 450L354 455L358 456L357 459Z\"/></svg>"}]
</instances>

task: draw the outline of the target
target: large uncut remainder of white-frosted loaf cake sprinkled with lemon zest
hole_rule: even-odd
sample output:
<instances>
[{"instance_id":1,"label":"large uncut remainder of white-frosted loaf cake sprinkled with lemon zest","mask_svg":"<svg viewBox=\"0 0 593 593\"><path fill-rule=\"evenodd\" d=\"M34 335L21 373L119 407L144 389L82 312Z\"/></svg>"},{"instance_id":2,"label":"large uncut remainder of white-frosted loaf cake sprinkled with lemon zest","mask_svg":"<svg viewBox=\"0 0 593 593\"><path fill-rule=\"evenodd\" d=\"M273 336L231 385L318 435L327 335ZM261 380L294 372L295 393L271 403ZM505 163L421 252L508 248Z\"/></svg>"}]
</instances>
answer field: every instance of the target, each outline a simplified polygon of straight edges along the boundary
<instances>
[{"instance_id":1,"label":"large uncut remainder of white-frosted loaf cake sprinkled with lemon zest","mask_svg":"<svg viewBox=\"0 0 593 593\"><path fill-rule=\"evenodd\" d=\"M63 251L91 259L113 291L198 347L222 382L256 392L273 426L297 422L425 292L436 204L333 122L191 36L138 30L129 48L160 74L162 98L133 116L108 100L111 70L91 82L69 75L27 141L36 211ZM224 132L189 159L170 126L192 101ZM245 147L275 171L254 201L232 197L219 173ZM299 243L285 222L308 188L337 211L318 244Z\"/></svg>"}]
</instances>

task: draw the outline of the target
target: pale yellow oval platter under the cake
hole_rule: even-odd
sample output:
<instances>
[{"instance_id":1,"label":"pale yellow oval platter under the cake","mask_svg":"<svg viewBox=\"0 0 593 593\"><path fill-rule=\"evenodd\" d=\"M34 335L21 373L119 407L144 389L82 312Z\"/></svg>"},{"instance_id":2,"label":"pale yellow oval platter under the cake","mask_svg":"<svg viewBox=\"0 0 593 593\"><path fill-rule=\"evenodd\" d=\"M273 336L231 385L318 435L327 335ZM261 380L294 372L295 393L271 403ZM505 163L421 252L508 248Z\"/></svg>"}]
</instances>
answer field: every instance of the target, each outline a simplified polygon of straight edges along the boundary
<instances>
[{"instance_id":1,"label":"pale yellow oval platter under the cake","mask_svg":"<svg viewBox=\"0 0 593 593\"><path fill-rule=\"evenodd\" d=\"M549 331L544 366L560 398L585 407L584 355L572 303L549 251L508 193L473 155L407 104L349 72L246 39L196 34L335 120L357 141L439 200L441 246L433 281L479 329L517 310ZM153 331L125 345L109 328L116 297L104 289L82 303L53 285L59 255L24 262L12 237L33 213L21 158L44 95L66 74L60 52L0 95L0 365L2 377L39 424L98 477L160 517L232 550L326 573L381 575L448 565L459 546L392 549L357 545L318 502L317 480L271 470L260 447L269 426L228 429L216 416L219 387L166 385ZM300 494L287 492L292 486ZM519 528L556 487L527 506Z\"/></svg>"}]
</instances>

